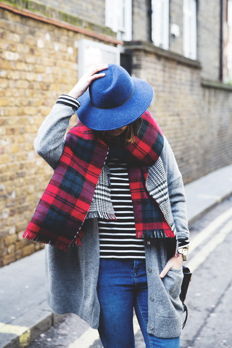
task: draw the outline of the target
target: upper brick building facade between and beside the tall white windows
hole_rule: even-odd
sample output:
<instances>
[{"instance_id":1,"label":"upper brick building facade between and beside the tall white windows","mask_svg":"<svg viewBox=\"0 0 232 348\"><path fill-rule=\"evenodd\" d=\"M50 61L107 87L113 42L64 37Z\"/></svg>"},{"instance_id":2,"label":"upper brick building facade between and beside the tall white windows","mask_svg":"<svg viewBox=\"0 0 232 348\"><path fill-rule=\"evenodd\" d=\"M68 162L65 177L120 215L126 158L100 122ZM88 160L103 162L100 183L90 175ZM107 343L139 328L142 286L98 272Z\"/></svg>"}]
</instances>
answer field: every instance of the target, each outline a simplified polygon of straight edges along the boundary
<instances>
[{"instance_id":1,"label":"upper brick building facade between and beside the tall white windows","mask_svg":"<svg viewBox=\"0 0 232 348\"><path fill-rule=\"evenodd\" d=\"M147 0L133 1L133 40L148 40L147 9ZM220 13L220 1L197 1L197 59L201 76L209 80L220 76ZM172 23L179 26L179 37L170 34ZM183 55L183 0L169 0L169 50Z\"/></svg>"}]
</instances>

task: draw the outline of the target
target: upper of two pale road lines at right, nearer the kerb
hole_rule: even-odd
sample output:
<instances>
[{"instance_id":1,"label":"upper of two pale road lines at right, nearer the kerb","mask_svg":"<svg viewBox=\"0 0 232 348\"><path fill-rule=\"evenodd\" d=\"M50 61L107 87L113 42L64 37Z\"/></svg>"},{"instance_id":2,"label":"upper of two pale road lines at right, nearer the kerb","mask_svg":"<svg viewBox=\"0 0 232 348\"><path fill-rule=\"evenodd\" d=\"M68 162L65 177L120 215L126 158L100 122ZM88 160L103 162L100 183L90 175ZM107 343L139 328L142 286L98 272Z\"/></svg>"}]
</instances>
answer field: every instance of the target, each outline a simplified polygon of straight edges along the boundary
<instances>
[{"instance_id":1,"label":"upper of two pale road lines at right, nearer the kerb","mask_svg":"<svg viewBox=\"0 0 232 348\"><path fill-rule=\"evenodd\" d=\"M195 250L199 245L201 245L205 239L207 239L218 227L220 227L226 220L232 216L232 208L225 211L223 214L219 215L210 222L210 224L204 228L198 235L190 241L189 254Z\"/></svg>"}]
</instances>

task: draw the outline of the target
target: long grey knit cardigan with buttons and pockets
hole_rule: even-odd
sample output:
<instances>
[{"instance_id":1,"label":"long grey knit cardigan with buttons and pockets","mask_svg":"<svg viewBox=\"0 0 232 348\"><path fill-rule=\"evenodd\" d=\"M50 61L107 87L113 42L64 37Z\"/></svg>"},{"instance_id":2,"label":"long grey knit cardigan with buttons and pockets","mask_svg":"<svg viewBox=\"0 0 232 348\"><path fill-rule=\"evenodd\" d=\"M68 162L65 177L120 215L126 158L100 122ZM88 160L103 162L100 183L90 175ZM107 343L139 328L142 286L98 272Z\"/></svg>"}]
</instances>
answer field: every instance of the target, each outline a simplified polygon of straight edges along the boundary
<instances>
[{"instance_id":1,"label":"long grey knit cardigan with buttons and pockets","mask_svg":"<svg viewBox=\"0 0 232 348\"><path fill-rule=\"evenodd\" d=\"M55 169L64 149L64 135L75 109L55 104L38 130L35 151ZM160 156L164 167L168 195L177 239L187 240L187 214L184 186L173 151L165 138ZM81 247L68 251L46 245L48 303L58 314L74 313L94 329L99 325L100 306L97 298L99 269L99 235L97 219L88 219ZM159 274L167 262L165 240L145 239L148 284L147 332L161 338L178 337L182 333L183 306L179 299L183 272L170 269L164 278ZM148 271L151 268L152 271ZM151 300L154 298L154 300ZM113 328L112 328L113 330Z\"/></svg>"}]
</instances>

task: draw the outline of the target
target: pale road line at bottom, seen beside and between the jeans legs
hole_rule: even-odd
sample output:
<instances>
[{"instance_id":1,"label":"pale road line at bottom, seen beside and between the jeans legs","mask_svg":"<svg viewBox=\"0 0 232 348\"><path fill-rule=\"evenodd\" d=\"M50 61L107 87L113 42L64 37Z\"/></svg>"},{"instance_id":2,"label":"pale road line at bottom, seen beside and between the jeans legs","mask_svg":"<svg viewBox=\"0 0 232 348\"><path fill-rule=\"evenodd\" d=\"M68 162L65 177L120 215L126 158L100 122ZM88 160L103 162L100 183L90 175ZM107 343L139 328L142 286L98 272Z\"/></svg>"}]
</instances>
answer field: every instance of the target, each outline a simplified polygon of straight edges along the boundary
<instances>
[{"instance_id":1,"label":"pale road line at bottom, seen beside and between the jeans legs","mask_svg":"<svg viewBox=\"0 0 232 348\"><path fill-rule=\"evenodd\" d=\"M140 330L136 315L133 317L134 334ZM68 348L89 348L93 343L99 339L98 331L91 327L75 340Z\"/></svg>"}]
</instances>

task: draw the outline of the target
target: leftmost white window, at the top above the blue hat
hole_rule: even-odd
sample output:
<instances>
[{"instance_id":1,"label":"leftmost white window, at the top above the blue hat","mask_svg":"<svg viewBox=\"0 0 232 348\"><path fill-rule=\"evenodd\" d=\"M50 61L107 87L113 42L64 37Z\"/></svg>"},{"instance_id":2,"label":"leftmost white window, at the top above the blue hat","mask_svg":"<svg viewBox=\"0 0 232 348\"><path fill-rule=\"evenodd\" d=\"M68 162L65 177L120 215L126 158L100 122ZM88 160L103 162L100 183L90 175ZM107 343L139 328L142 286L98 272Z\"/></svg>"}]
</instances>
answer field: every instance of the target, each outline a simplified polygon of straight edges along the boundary
<instances>
[{"instance_id":1,"label":"leftmost white window, at the top above the blue hat","mask_svg":"<svg viewBox=\"0 0 232 348\"><path fill-rule=\"evenodd\" d=\"M105 0L105 26L123 41L132 39L132 0Z\"/></svg>"}]
</instances>

